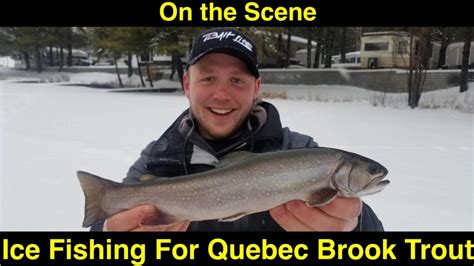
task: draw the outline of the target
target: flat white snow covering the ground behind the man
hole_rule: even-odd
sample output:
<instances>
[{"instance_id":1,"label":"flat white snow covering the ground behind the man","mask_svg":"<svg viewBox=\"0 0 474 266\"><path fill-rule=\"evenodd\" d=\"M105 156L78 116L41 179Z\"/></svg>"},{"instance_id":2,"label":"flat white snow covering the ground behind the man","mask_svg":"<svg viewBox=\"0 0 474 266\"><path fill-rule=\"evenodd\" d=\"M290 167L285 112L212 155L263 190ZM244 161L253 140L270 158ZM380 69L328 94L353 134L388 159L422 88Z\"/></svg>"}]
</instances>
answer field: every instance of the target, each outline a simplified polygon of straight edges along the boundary
<instances>
[{"instance_id":1,"label":"flat white snow covering the ground behind the man","mask_svg":"<svg viewBox=\"0 0 474 266\"><path fill-rule=\"evenodd\" d=\"M187 100L178 93L62 86L109 82L112 74L54 74L67 76L57 79L65 82L18 83L55 80L51 73L24 73L0 67L0 231L85 230L76 171L120 181ZM292 130L389 169L387 189L364 198L387 230L472 230L474 118L468 111L474 84L470 87L463 95L458 88L424 95L427 102L446 104L435 109L406 108L401 95L382 95L384 103L396 103L383 106L377 102L382 96L343 86L313 86L296 94L279 86L290 91L291 100L269 101Z\"/></svg>"}]
</instances>

